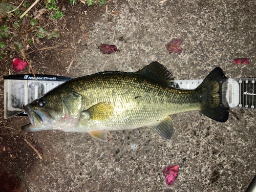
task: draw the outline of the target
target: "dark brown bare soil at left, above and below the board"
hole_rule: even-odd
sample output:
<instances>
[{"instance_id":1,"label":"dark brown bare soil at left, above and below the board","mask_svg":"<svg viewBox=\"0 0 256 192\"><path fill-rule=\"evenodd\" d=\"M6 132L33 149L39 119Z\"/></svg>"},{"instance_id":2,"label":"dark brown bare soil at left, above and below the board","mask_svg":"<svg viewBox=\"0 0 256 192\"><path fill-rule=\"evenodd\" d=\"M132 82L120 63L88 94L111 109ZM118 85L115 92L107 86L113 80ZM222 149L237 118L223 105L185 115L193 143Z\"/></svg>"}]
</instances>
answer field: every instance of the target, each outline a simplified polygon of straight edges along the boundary
<instances>
[{"instance_id":1,"label":"dark brown bare soil at left, above and below the board","mask_svg":"<svg viewBox=\"0 0 256 192\"><path fill-rule=\"evenodd\" d=\"M9 1L7 1L8 3ZM22 1L15 2L18 6ZM34 1L26 1L32 5ZM115 8L117 3L108 1L109 10ZM13 40L9 38L1 39L6 44L7 55L3 55L0 65L0 102L4 103L4 79L3 76L14 75L15 72L12 68L12 60L14 58L23 58L24 53L26 58L31 61L32 69L35 74L51 74L74 77L72 74L67 73L67 68L72 62L73 58L78 56L78 53L87 49L90 44L88 32L102 13L106 11L105 6L92 5L88 7L77 1L75 6L70 4L70 1L64 0L58 3L59 10L65 15L58 18L56 21L50 18L50 11L46 11L37 19L37 26L45 26L46 31L56 31L60 36L59 38L37 38L34 36L34 44L26 47L21 52L17 52L13 46ZM28 12L29 16L33 15L35 10L45 8L44 1L40 1L31 11ZM20 12L24 12L25 8L20 8ZM28 16L27 23L30 20ZM33 17L32 17L33 18ZM1 25L6 25L12 31L12 23L18 22L19 18L13 16L10 20L1 18ZM74 25L76 24L76 25ZM28 25L27 25L28 26ZM30 26L31 27L31 26ZM36 29L36 28L33 28ZM15 31L15 30L14 30ZM52 48L39 50L42 48ZM28 55L27 55L28 54ZM20 74L31 73L27 66ZM4 119L4 104L0 105L0 191L26 191L26 175L30 172L31 167L38 160L38 155L35 151L24 141L25 138L42 153L45 150L44 136L40 138L33 137L33 133L25 133L20 130L20 126L29 123L28 118L15 116L13 118ZM47 132L45 137L51 138L51 132ZM54 138L58 140L61 138ZM49 143L48 143L49 144ZM54 142L52 143L54 145ZM44 150L43 150L44 148Z\"/></svg>"}]
</instances>

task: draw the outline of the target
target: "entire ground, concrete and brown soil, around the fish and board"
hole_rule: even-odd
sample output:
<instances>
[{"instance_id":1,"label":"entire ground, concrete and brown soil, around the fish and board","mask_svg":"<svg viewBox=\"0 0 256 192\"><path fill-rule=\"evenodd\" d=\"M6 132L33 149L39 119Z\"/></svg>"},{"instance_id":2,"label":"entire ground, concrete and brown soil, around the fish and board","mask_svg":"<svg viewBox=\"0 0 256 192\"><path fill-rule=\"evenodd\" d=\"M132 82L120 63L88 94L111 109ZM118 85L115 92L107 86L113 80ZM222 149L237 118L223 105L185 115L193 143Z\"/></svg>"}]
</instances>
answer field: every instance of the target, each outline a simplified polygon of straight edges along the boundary
<instances>
[{"instance_id":1,"label":"entire ground, concrete and brown soil, around the fish and board","mask_svg":"<svg viewBox=\"0 0 256 192\"><path fill-rule=\"evenodd\" d=\"M31 32L34 44L29 47L24 34L20 52L14 38L0 39L6 44L0 50L0 191L246 190L256 174L255 110L232 109L240 120L230 114L224 123L199 112L174 114L170 140L142 127L114 131L111 142L103 143L87 133L21 131L28 117L4 119L3 76L15 74L12 60L26 55L36 74L73 78L102 71L136 72L152 61L159 61L176 80L204 79L216 67L228 78L255 77L255 1L109 0L88 7L82 0L74 6L61 0L57 6L64 17L55 22L46 11L31 27L35 10L45 8L45 1L28 12L25 31L41 26L59 38L37 38ZM34 0L26 2L30 6ZM20 13L26 9L22 5ZM19 18L8 21L0 15L0 26L18 34L12 23ZM22 21L19 25L23 27ZM165 45L177 38L183 40L183 51L169 54ZM115 45L119 52L102 54L100 44ZM250 65L234 65L234 58L249 58ZM29 66L20 74L31 74ZM168 165L180 167L172 186L162 173Z\"/></svg>"}]
</instances>

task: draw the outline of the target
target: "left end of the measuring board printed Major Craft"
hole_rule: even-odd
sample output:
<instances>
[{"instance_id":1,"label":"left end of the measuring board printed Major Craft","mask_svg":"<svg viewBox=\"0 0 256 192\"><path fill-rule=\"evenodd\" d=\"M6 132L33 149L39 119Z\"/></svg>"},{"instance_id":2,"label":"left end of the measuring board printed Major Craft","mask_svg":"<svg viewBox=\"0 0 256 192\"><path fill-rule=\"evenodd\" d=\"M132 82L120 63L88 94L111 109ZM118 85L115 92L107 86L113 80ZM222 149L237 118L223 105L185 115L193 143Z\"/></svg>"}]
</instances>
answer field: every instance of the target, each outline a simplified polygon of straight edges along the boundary
<instances>
[{"instance_id":1,"label":"left end of the measuring board printed Major Craft","mask_svg":"<svg viewBox=\"0 0 256 192\"><path fill-rule=\"evenodd\" d=\"M23 106L43 96L63 82L71 80L71 77L58 75L36 75L37 80L31 74L5 76L4 86L4 118L15 115L27 115Z\"/></svg>"}]
</instances>

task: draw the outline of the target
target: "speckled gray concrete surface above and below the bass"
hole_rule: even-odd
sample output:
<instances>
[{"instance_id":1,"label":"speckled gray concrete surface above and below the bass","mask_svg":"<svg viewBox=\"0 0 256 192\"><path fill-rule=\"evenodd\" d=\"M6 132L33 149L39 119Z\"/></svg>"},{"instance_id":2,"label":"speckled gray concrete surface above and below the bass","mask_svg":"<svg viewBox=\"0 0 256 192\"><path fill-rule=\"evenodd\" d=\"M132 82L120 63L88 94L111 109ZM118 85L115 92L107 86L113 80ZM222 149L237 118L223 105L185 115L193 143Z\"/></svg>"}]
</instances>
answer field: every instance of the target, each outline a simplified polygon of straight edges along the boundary
<instances>
[{"instance_id":1,"label":"speckled gray concrete surface above and below the bass","mask_svg":"<svg viewBox=\"0 0 256 192\"><path fill-rule=\"evenodd\" d=\"M227 77L255 77L255 7L255 1L122 1L115 9L121 13L105 13L95 23L88 42L94 41L78 53L71 74L135 72L157 60L176 79L203 79L217 66ZM165 48L174 38L184 41L180 55ZM120 52L102 55L96 49L102 43ZM233 65L238 57L250 58L250 65ZM240 121L173 115L169 141L145 127L113 132L108 143L80 133L35 133L47 150L27 184L31 191L245 191L256 174L256 112L233 111ZM49 140L40 140L45 134ZM168 186L162 170L175 164L179 176Z\"/></svg>"}]
</instances>

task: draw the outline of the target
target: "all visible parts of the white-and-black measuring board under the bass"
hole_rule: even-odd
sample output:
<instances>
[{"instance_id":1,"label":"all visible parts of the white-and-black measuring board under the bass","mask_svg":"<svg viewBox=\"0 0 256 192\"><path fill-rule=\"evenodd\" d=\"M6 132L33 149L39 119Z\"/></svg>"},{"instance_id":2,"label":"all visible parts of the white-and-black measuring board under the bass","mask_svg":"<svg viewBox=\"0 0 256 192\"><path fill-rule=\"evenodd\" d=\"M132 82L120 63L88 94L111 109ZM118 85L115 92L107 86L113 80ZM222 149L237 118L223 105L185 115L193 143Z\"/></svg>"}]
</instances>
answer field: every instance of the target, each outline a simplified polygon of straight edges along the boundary
<instances>
[{"instance_id":1,"label":"all visible parts of the white-and-black measuring board under the bass","mask_svg":"<svg viewBox=\"0 0 256 192\"><path fill-rule=\"evenodd\" d=\"M23 106L46 94L60 84L71 80L70 77L55 75L8 75L5 76L4 118L14 115L26 115ZM223 103L230 108L255 110L256 78L228 79L226 100ZM174 80L173 85L179 89L196 89L203 79ZM255 93L254 93L255 91Z\"/></svg>"}]
</instances>

